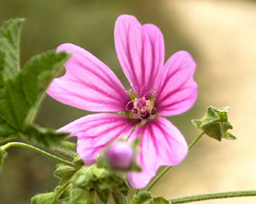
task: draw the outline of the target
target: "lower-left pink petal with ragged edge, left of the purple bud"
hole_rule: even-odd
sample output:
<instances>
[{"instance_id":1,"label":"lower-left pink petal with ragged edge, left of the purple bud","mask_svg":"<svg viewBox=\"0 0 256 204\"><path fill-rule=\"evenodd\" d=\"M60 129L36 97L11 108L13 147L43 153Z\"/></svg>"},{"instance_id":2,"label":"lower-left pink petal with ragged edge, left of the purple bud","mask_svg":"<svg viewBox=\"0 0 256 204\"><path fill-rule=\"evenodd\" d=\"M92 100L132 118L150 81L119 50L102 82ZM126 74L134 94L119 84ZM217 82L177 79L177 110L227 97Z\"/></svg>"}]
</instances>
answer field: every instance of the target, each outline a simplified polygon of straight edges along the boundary
<instances>
[{"instance_id":1,"label":"lower-left pink petal with ragged edge, left of the purple bud","mask_svg":"<svg viewBox=\"0 0 256 204\"><path fill-rule=\"evenodd\" d=\"M58 132L69 132L70 136L78 137L77 152L84 163L89 165L96 161L97 154L106 145L121 134L131 133L135 125L124 116L98 113L81 117L61 127Z\"/></svg>"}]
</instances>

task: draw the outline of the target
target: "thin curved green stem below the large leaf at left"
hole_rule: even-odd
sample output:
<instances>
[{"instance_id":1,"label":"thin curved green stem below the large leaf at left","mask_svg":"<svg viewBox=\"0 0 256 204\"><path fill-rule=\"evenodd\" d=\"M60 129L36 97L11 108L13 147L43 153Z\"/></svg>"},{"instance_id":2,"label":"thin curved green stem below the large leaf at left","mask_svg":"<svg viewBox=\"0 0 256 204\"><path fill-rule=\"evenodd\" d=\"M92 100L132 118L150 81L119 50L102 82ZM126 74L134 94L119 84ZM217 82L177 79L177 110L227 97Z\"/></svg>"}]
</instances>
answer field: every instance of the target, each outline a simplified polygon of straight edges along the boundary
<instances>
[{"instance_id":1,"label":"thin curved green stem below the large leaf at left","mask_svg":"<svg viewBox=\"0 0 256 204\"><path fill-rule=\"evenodd\" d=\"M61 159L60 157L57 157L57 156L54 156L54 155L51 155L48 152L46 152L44 150L40 150L37 147L34 147L30 144L25 144L25 143L20 143L20 142L10 142L8 144L4 144L0 148L2 150L7 150L10 147L14 147L14 146L20 146L20 147L25 147L26 149L29 149L29 150L34 150L34 151L40 153L41 155L48 156L49 158L51 158L55 161L59 161L61 163L67 164L68 166L71 166L71 167L76 167L76 164L74 164L73 162Z\"/></svg>"}]
</instances>

